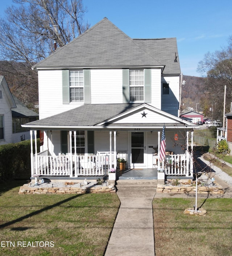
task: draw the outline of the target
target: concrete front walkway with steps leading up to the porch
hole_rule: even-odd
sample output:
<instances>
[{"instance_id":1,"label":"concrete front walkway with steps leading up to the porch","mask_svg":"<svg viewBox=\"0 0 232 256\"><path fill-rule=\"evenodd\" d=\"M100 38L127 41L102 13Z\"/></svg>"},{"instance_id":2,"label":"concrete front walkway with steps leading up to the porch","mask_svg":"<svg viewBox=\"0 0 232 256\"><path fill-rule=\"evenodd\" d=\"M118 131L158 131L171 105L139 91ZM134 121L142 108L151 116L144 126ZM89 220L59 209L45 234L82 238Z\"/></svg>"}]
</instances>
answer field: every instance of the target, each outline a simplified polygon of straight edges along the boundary
<instances>
[{"instance_id":1,"label":"concrete front walkway with steps leading up to the porch","mask_svg":"<svg viewBox=\"0 0 232 256\"><path fill-rule=\"evenodd\" d=\"M157 180L118 180L121 206L105 256L154 256L152 200Z\"/></svg>"}]
</instances>

